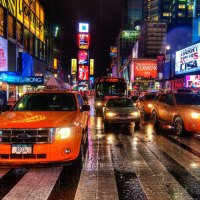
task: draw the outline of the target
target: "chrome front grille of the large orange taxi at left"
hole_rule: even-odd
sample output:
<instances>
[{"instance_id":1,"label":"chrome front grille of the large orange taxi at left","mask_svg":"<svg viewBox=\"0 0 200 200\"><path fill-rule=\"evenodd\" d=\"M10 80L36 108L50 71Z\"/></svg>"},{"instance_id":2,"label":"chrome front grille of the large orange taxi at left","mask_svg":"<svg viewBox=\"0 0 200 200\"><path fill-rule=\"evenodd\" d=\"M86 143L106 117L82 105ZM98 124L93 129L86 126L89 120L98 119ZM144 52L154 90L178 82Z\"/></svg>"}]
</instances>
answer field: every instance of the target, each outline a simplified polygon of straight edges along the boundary
<instances>
[{"instance_id":1,"label":"chrome front grille of the large orange taxi at left","mask_svg":"<svg viewBox=\"0 0 200 200\"><path fill-rule=\"evenodd\" d=\"M52 143L52 129L1 129L0 143Z\"/></svg>"}]
</instances>

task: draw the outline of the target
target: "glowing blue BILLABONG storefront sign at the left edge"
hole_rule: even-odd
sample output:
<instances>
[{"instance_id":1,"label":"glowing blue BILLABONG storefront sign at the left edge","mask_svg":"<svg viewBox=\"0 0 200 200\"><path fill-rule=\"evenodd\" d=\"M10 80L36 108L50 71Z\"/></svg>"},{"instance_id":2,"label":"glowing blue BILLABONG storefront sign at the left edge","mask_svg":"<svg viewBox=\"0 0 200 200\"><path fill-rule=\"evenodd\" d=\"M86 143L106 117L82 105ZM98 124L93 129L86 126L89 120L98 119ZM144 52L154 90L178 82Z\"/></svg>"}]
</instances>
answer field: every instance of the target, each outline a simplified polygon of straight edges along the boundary
<instances>
[{"instance_id":1,"label":"glowing blue BILLABONG storefront sign at the left edge","mask_svg":"<svg viewBox=\"0 0 200 200\"><path fill-rule=\"evenodd\" d=\"M44 77L41 76L21 76L17 73L0 72L0 81L17 85L42 85Z\"/></svg>"}]
</instances>

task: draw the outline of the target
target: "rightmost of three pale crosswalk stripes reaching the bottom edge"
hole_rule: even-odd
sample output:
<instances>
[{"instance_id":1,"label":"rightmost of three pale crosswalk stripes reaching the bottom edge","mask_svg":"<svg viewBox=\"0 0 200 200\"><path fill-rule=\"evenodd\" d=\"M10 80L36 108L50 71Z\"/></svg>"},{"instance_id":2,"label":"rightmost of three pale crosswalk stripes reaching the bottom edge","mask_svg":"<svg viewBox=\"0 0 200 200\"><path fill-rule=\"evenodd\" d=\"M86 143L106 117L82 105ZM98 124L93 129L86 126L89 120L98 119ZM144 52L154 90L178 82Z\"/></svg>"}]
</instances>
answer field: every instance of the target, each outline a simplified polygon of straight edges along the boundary
<instances>
[{"instance_id":1,"label":"rightmost of three pale crosswalk stripes reaching the bottom edge","mask_svg":"<svg viewBox=\"0 0 200 200\"><path fill-rule=\"evenodd\" d=\"M177 199L192 200L188 192L143 143L137 141L135 148L136 144L130 138L121 135L120 140L149 200L173 199L175 196Z\"/></svg>"}]
</instances>

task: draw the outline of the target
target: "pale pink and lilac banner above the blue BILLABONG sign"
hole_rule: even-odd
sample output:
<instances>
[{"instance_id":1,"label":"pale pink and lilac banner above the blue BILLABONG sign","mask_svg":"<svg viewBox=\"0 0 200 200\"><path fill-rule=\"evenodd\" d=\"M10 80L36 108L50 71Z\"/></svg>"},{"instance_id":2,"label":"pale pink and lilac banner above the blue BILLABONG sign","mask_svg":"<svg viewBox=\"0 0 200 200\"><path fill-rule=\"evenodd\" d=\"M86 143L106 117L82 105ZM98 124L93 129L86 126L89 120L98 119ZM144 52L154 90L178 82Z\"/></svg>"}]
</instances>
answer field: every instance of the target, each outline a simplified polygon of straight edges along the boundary
<instances>
[{"instance_id":1,"label":"pale pink and lilac banner above the blue BILLABONG sign","mask_svg":"<svg viewBox=\"0 0 200 200\"><path fill-rule=\"evenodd\" d=\"M0 37L0 71L8 71L8 42Z\"/></svg>"}]
</instances>

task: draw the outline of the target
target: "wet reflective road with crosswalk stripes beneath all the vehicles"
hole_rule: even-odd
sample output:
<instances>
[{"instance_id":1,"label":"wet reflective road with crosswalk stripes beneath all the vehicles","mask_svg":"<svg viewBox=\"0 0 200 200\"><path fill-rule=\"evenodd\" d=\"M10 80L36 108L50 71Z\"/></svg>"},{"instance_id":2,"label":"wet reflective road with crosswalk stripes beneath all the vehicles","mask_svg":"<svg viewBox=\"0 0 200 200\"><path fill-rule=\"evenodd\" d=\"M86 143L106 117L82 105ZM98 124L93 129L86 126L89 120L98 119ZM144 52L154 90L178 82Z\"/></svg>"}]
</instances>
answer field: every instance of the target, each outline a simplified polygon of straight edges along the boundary
<instances>
[{"instance_id":1,"label":"wet reflective road with crosswalk stripes beneath all the vehicles","mask_svg":"<svg viewBox=\"0 0 200 200\"><path fill-rule=\"evenodd\" d=\"M0 199L200 199L199 134L172 133L149 119L105 130L92 108L83 163L0 168Z\"/></svg>"}]
</instances>

